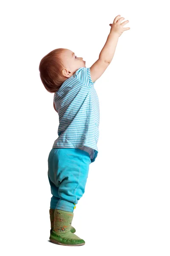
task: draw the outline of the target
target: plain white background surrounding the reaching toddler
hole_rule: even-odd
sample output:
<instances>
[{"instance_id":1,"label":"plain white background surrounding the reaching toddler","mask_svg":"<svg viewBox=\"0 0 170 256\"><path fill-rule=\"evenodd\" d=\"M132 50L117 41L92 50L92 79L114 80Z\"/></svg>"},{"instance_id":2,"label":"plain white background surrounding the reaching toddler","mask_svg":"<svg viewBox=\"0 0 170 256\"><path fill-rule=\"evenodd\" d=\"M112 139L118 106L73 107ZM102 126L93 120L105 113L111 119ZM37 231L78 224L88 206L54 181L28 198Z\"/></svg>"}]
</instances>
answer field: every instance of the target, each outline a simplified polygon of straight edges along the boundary
<instances>
[{"instance_id":1,"label":"plain white background surrounding the reaching toddler","mask_svg":"<svg viewBox=\"0 0 170 256\"><path fill-rule=\"evenodd\" d=\"M1 255L169 256L167 1L15 0L0 12ZM59 118L40 60L67 48L91 67L117 15L130 30L95 84L99 154L72 222L85 245L53 244L47 160Z\"/></svg>"}]
</instances>

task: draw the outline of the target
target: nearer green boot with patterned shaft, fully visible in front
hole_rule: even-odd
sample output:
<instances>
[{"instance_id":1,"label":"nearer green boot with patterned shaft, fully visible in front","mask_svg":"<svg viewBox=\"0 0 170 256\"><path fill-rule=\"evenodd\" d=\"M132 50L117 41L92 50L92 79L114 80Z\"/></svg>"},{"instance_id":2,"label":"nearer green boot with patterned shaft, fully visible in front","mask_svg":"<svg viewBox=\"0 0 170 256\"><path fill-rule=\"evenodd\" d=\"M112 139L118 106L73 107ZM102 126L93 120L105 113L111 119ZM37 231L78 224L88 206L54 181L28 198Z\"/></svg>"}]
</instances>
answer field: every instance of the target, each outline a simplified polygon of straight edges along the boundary
<instances>
[{"instance_id":1,"label":"nearer green boot with patterned shaft, fully visible in front","mask_svg":"<svg viewBox=\"0 0 170 256\"><path fill-rule=\"evenodd\" d=\"M54 229L51 231L50 241L55 244L79 246L85 241L71 233L71 222L73 212L66 212L59 209L54 211Z\"/></svg>"}]
</instances>

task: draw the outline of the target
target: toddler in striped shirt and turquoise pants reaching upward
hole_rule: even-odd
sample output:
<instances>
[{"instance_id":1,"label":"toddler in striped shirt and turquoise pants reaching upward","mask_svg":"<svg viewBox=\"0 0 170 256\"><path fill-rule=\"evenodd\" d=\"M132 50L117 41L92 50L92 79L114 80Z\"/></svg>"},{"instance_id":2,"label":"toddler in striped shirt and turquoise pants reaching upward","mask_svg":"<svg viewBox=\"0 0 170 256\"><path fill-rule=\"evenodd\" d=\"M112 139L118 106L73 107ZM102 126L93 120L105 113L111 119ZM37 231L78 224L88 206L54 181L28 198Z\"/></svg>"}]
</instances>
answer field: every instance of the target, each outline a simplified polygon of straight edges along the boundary
<instances>
[{"instance_id":1,"label":"toddler in striped shirt and turquoise pants reaching upward","mask_svg":"<svg viewBox=\"0 0 170 256\"><path fill-rule=\"evenodd\" d=\"M118 15L99 59L85 67L83 58L69 49L55 49L40 61L40 78L46 90L54 93L54 109L59 115L58 138L48 156L51 186L50 240L79 246L85 241L71 226L73 212L85 192L89 165L96 160L99 139L99 99L96 80L111 63L119 36L129 21Z\"/></svg>"}]
</instances>

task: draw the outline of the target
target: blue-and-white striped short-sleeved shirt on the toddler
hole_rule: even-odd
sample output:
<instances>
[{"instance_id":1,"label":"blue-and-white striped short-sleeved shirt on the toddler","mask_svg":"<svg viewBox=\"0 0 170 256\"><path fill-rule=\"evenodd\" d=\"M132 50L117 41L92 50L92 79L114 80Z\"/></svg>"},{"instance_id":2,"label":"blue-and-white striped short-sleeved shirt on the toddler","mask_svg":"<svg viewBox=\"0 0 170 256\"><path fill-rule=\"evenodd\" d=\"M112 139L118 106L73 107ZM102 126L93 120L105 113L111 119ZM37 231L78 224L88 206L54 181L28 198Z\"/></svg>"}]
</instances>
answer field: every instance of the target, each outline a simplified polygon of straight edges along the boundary
<instances>
[{"instance_id":1,"label":"blue-and-white striped short-sleeved shirt on the toddler","mask_svg":"<svg viewBox=\"0 0 170 256\"><path fill-rule=\"evenodd\" d=\"M80 67L54 94L59 115L58 138L53 148L80 148L93 163L98 154L99 99L91 80L90 67Z\"/></svg>"}]
</instances>

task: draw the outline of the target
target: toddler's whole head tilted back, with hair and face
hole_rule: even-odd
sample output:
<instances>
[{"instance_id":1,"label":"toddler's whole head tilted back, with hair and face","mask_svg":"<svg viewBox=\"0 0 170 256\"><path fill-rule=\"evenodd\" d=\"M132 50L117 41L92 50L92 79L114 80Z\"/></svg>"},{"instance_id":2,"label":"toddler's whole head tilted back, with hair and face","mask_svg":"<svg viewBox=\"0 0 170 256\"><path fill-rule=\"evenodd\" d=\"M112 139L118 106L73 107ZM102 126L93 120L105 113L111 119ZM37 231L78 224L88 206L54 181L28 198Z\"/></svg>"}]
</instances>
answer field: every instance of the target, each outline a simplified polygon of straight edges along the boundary
<instances>
[{"instance_id":1,"label":"toddler's whole head tilted back, with hair and face","mask_svg":"<svg viewBox=\"0 0 170 256\"><path fill-rule=\"evenodd\" d=\"M82 58L75 56L69 49L58 48L49 52L40 61L40 78L45 89L55 93L80 67L85 67Z\"/></svg>"}]
</instances>

